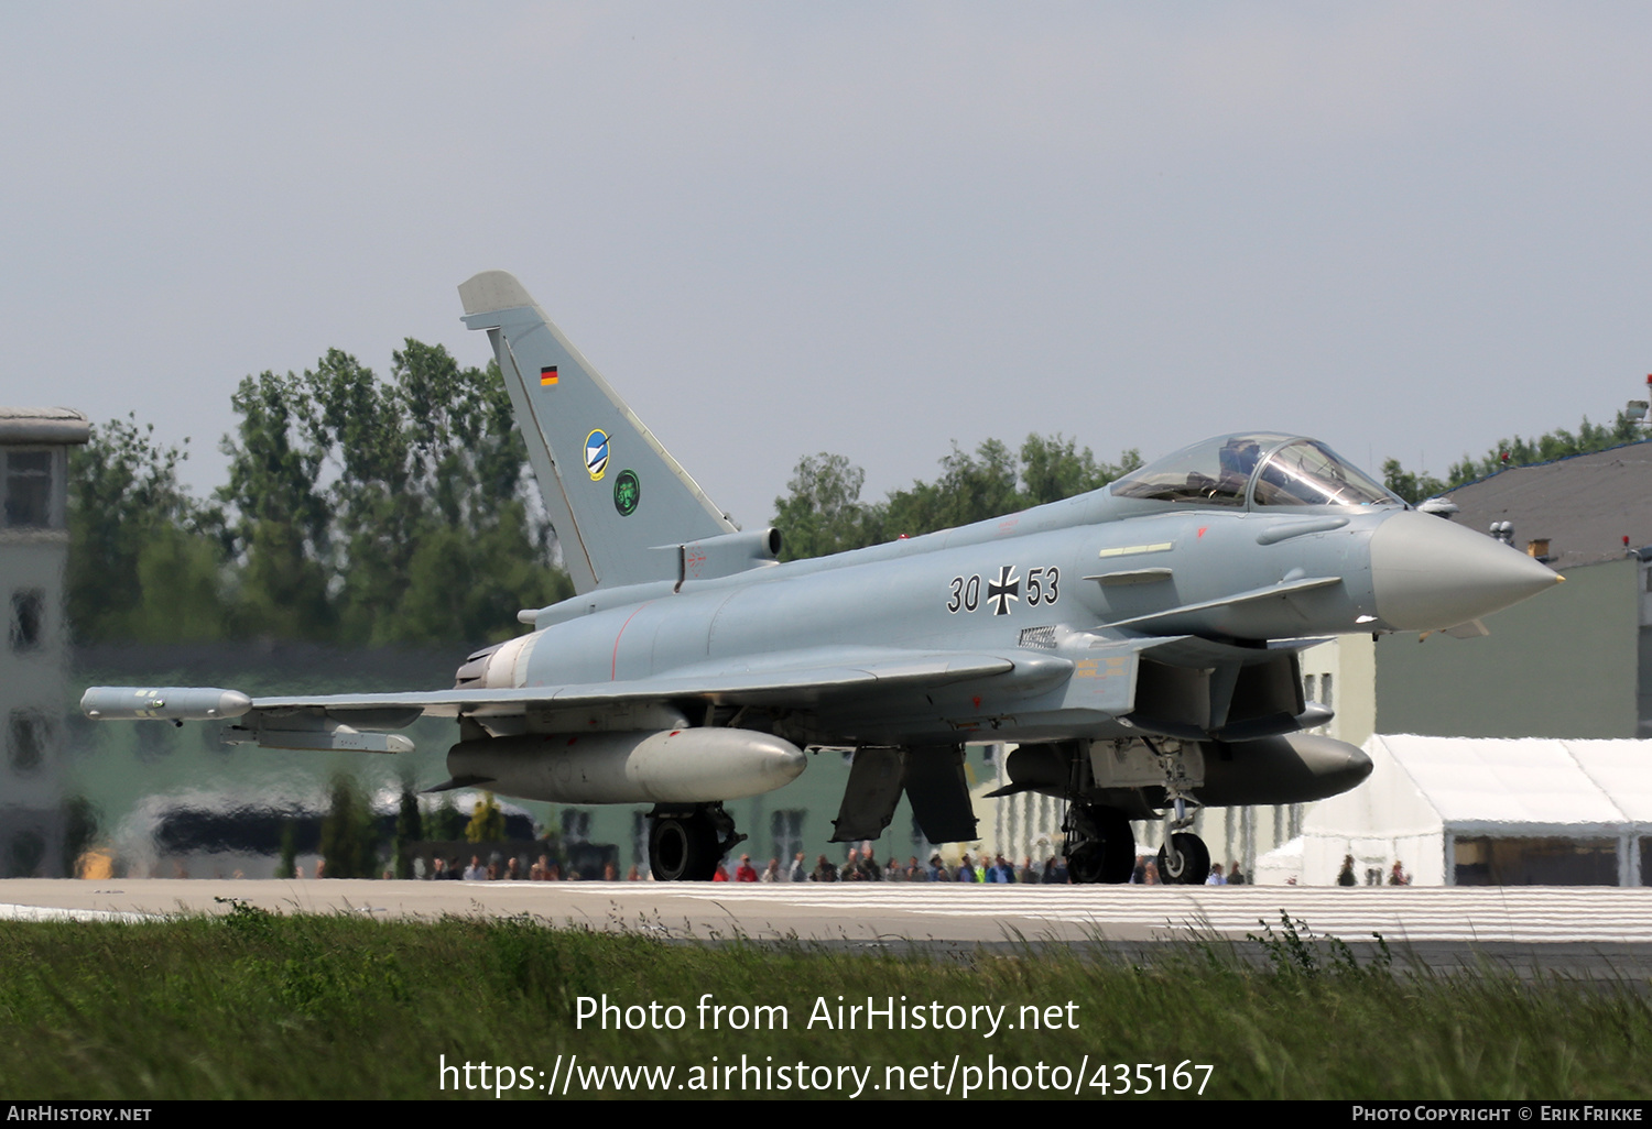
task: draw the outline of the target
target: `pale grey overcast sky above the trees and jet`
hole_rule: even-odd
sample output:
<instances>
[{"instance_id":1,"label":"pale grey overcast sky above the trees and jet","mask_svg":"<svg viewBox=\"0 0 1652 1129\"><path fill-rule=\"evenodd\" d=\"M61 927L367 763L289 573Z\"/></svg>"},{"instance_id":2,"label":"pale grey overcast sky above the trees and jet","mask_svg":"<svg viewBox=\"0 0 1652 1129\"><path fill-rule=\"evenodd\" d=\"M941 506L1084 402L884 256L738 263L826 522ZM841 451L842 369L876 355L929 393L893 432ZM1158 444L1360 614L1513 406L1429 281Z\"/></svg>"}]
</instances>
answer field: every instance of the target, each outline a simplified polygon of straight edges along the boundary
<instances>
[{"instance_id":1,"label":"pale grey overcast sky above the trees and jet","mask_svg":"<svg viewBox=\"0 0 1652 1129\"><path fill-rule=\"evenodd\" d=\"M8 3L0 401L486 363L514 272L747 527L957 441L1444 472L1652 371L1652 8Z\"/></svg>"}]
</instances>

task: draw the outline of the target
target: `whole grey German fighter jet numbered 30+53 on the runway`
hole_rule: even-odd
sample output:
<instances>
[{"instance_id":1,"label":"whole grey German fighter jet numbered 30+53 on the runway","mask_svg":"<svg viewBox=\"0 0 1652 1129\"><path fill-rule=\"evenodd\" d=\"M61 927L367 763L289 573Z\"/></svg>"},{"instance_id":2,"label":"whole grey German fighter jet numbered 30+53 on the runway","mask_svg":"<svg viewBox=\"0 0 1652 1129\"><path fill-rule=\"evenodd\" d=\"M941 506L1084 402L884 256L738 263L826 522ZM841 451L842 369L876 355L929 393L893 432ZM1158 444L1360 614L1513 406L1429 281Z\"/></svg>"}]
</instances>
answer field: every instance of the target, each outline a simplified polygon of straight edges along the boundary
<instances>
[{"instance_id":1,"label":"whole grey German fighter jet numbered 30+53 on the runway","mask_svg":"<svg viewBox=\"0 0 1652 1129\"><path fill-rule=\"evenodd\" d=\"M575 596L469 655L451 690L249 698L94 687L106 720L228 720L231 741L408 753L458 720L439 787L653 804L649 865L707 880L743 838L725 801L805 749L854 749L834 838L877 838L905 794L930 842L976 837L971 743L1006 791L1067 802L1075 881L1127 881L1133 819L1160 873L1203 881L1199 805L1295 804L1371 771L1305 733L1297 655L1327 635L1457 629L1556 583L1419 513L1313 439L1221 436L1108 487L990 522L778 563L740 530L510 274L459 287L499 361ZM434 789L433 789L434 791Z\"/></svg>"}]
</instances>

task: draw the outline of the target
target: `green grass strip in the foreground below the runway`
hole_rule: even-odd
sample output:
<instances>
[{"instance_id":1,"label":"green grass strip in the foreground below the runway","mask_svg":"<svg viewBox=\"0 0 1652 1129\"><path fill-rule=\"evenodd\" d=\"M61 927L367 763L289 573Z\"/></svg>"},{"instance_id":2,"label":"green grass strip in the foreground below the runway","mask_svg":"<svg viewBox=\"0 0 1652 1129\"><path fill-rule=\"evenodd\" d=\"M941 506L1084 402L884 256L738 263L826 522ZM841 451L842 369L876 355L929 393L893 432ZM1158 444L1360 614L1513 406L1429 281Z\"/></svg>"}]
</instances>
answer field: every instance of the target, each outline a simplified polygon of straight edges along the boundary
<instances>
[{"instance_id":1,"label":"green grass strip in the foreground below the runway","mask_svg":"<svg viewBox=\"0 0 1652 1129\"><path fill-rule=\"evenodd\" d=\"M458 1070L441 1088L438 1063L509 1065L514 1081L542 1084L553 1071L565 1078L577 1055L582 1068L671 1066L671 1098L695 1096L695 1076L702 1086L729 1081L707 1068L722 1071L742 1056L770 1070L803 1063L814 1083L814 1066L871 1068L871 1084L894 1078L885 1066L900 1066L909 1084L925 1086L923 1096L948 1071L957 1096L970 1081L966 1068L976 1086L996 1083L993 1096L1006 1096L1006 1086L1008 1096L1059 1096L1034 1079L1056 1084L1064 1070L1072 1094L1080 1063L1084 1081L1107 1078L1113 1096L1118 1063L1137 1088L1137 1063L1163 1065L1173 1094L1178 1065L1209 1065L1206 1098L1652 1096L1645 985L1396 971L1381 954L1360 964L1346 946L1315 941L1300 924L1287 918L1279 931L1254 934L1247 944L1269 957L1260 966L1206 941L1143 967L1031 946L960 961L681 944L529 919L278 916L246 905L216 918L140 924L0 923L0 1093L492 1099L491 1086L466 1089ZM725 1012L722 1030L702 1030L697 1002L707 992L712 1005L783 1005L790 1023L727 1030L740 1012ZM659 1004L657 1022L577 1027L580 997L603 995L620 1007ZM839 995L846 1007L867 997L882 1007L894 997L927 1015L938 1002L943 1018L947 1007L1004 1007L1006 1023L1036 1007L1041 1025L1056 1020L1057 1028L809 1027L821 1002L836 1017ZM681 1030L664 1030L667 1015L677 1017L662 1010L669 1005L682 1009ZM990 1055L998 1076L986 1073ZM910 1073L917 1066L928 1070ZM1011 1073L1018 1066L1024 1070ZM745 1078L750 1096L800 1096L795 1083L778 1094L753 1093L758 1076ZM778 1086L776 1075L768 1078ZM1148 1078L1160 1093L1160 1075L1150 1070ZM491 1083L499 1079L494 1071ZM482 1078L472 1070L468 1081ZM738 1081L732 1084L738 1096ZM852 1089L851 1079L826 1096ZM568 1096L593 1094L573 1084ZM623 1096L644 1094L631 1086Z\"/></svg>"}]
</instances>

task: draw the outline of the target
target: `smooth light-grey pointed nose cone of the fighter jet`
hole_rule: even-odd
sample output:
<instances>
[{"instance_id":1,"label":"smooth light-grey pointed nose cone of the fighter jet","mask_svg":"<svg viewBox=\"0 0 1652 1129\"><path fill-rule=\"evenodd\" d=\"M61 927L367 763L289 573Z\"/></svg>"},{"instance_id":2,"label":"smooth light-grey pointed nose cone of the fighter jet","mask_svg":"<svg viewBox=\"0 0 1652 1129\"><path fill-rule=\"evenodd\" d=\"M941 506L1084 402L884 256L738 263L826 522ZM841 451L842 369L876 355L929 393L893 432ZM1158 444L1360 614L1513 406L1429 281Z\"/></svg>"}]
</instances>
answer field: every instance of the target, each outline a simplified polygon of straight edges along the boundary
<instances>
[{"instance_id":1,"label":"smooth light-grey pointed nose cone of the fighter jet","mask_svg":"<svg viewBox=\"0 0 1652 1129\"><path fill-rule=\"evenodd\" d=\"M1546 564L1427 513L1396 513L1371 535L1376 616L1396 631L1455 627L1556 583Z\"/></svg>"}]
</instances>

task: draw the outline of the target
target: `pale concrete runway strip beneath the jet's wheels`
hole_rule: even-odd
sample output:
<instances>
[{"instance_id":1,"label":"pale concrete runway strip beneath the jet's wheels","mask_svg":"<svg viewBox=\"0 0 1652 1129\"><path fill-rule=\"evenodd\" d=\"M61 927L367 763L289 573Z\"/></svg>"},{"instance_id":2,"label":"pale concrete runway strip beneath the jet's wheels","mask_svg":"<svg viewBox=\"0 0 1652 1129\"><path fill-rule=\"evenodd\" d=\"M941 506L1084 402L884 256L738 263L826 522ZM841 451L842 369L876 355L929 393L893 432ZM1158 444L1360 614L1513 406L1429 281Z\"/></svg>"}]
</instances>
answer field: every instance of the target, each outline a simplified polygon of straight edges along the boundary
<instances>
[{"instance_id":1,"label":"pale concrete runway strip beneath the jet's wheels","mask_svg":"<svg viewBox=\"0 0 1652 1129\"><path fill-rule=\"evenodd\" d=\"M1652 972L1652 888L976 886L952 883L529 883L360 880L0 881L0 918L144 921L225 913L383 918L530 916L550 926L667 939L955 947L1191 939L1244 942L1282 914L1360 951L1373 934L1412 959L1483 956L1530 967ZM1260 951L1259 946L1249 946Z\"/></svg>"}]
</instances>

